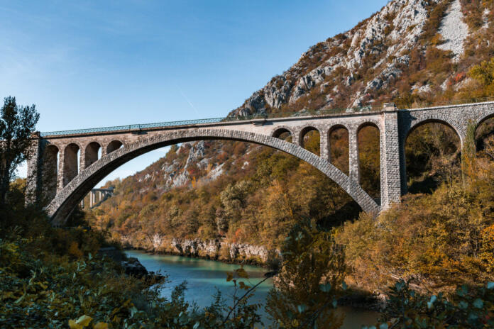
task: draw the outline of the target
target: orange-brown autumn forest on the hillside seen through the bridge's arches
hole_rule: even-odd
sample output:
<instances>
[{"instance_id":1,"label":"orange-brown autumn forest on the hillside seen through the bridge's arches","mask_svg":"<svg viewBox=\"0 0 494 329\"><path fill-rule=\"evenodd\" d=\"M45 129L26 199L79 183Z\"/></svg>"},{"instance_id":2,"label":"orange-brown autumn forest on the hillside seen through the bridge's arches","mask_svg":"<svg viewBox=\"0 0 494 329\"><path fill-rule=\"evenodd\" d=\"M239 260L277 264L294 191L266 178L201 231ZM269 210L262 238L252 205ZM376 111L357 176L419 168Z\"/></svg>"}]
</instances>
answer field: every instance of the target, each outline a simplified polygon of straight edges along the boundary
<instances>
[{"instance_id":1,"label":"orange-brown autumn forest on the hillside seen through the bridge's arches","mask_svg":"<svg viewBox=\"0 0 494 329\"><path fill-rule=\"evenodd\" d=\"M474 67L471 75L477 71L478 67ZM482 77L477 79L481 81ZM487 89L490 84L492 80L478 88ZM492 132L492 126L489 120L478 128L479 147ZM348 173L348 132L344 128L334 130L329 139L331 162ZM454 130L441 123L429 123L410 133L406 143L410 193L430 193L442 182L451 183L461 177L459 143ZM163 159L140 174L107 182L106 186L116 187L116 193L88 211L91 225L110 230L117 240L119 236L131 236L140 247L149 247L148 237L158 233L169 239L225 238L273 248L280 246L297 218L316 218L331 228L356 219L361 211L339 186L314 167L283 152L243 142L204 142L202 157L181 169L192 177L190 184L166 190L160 189L165 185L163 177L153 177L151 182L145 178L174 160L185 167L193 147L192 143L172 147ZM304 147L319 154L317 131L305 135ZM379 198L378 129L361 128L358 148L363 189ZM209 160L204 169L199 167L202 159ZM206 179L213 166L221 166L224 174Z\"/></svg>"}]
</instances>

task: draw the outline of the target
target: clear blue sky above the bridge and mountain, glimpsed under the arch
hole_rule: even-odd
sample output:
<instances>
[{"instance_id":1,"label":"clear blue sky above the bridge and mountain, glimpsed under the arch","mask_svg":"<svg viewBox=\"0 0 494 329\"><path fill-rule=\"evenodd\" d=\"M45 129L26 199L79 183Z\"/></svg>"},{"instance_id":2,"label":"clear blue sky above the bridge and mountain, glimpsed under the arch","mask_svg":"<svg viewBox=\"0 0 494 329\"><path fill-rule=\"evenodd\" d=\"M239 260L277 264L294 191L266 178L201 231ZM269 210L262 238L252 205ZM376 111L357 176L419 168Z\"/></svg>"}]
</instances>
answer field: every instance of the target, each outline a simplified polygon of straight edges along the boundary
<instances>
[{"instance_id":1,"label":"clear blue sky above the bridge and mountain, glimpsed under the arch","mask_svg":"<svg viewBox=\"0 0 494 329\"><path fill-rule=\"evenodd\" d=\"M221 117L386 3L0 1L0 94L36 104L40 131Z\"/></svg>"}]
</instances>

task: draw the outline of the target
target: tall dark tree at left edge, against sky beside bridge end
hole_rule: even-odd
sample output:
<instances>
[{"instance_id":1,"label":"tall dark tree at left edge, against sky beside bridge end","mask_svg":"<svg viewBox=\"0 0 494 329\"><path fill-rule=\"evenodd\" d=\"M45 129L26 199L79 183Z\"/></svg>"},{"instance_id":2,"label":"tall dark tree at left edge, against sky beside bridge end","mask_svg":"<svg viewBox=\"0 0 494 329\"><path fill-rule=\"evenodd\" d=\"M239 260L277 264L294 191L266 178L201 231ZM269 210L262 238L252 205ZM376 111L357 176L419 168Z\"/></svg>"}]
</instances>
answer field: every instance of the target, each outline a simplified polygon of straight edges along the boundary
<instances>
[{"instance_id":1,"label":"tall dark tree at left edge, against sky beside bridge end","mask_svg":"<svg viewBox=\"0 0 494 329\"><path fill-rule=\"evenodd\" d=\"M0 110L0 208L6 204L17 166L28 156L31 133L39 118L34 105L18 106L11 96L4 99Z\"/></svg>"}]
</instances>

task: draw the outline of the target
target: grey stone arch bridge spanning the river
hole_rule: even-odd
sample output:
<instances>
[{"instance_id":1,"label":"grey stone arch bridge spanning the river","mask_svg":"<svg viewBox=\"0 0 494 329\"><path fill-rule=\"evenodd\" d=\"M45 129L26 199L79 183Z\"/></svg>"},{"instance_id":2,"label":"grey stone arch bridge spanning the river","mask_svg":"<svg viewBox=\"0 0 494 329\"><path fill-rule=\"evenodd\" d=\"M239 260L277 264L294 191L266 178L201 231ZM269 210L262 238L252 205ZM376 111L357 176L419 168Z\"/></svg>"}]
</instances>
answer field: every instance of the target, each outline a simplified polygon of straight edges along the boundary
<instances>
[{"instance_id":1,"label":"grey stone arch bridge spanning the river","mask_svg":"<svg viewBox=\"0 0 494 329\"><path fill-rule=\"evenodd\" d=\"M220 139L266 145L298 157L339 184L363 211L378 213L400 202L407 191L405 140L414 128L423 123L444 123L456 131L463 146L468 123L478 125L490 116L494 116L494 102L408 110L385 104L378 111L322 111L317 116L218 118L34 133L28 159L28 202L43 204L53 224L62 225L97 182L128 160L167 145ZM377 200L359 184L357 135L368 125L380 132L381 192ZM348 176L329 159L329 133L335 128L348 130ZM304 134L310 130L319 131L320 156L303 148ZM290 133L292 143L278 138L282 133Z\"/></svg>"}]
</instances>

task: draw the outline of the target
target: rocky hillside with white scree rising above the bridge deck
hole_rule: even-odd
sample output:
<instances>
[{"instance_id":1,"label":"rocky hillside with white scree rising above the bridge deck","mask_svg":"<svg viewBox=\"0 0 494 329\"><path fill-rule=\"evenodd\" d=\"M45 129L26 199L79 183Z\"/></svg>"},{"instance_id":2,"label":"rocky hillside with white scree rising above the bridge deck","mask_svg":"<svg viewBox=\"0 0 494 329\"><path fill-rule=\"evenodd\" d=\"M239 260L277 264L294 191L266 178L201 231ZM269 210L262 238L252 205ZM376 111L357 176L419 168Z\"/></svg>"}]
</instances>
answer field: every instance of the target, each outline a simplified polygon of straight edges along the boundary
<instances>
[{"instance_id":1,"label":"rocky hillside with white scree rising above the bridge deck","mask_svg":"<svg viewBox=\"0 0 494 329\"><path fill-rule=\"evenodd\" d=\"M492 1L390 1L355 28L304 52L234 113L450 98L437 95L457 91L468 67L493 55L492 18Z\"/></svg>"}]
</instances>

